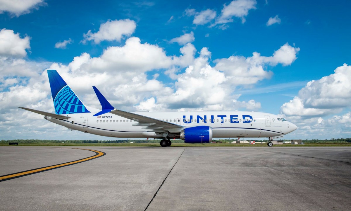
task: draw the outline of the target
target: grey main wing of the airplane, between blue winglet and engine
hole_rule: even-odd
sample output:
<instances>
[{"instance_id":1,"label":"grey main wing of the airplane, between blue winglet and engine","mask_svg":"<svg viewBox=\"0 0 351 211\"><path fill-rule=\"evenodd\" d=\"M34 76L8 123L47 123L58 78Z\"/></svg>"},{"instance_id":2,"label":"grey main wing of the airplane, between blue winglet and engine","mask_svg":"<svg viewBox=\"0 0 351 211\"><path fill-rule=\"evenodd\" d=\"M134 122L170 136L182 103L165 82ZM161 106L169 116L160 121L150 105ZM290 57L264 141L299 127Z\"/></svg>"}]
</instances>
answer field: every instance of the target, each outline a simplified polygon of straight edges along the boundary
<instances>
[{"instance_id":1,"label":"grey main wing of the airplane, between blue winglet and engine","mask_svg":"<svg viewBox=\"0 0 351 211\"><path fill-rule=\"evenodd\" d=\"M138 123L133 124L133 126L144 126L143 129L167 130L167 129L175 129L175 128L183 128L184 127L184 126L181 126L179 124L165 122L162 120L154 119L154 118L139 115L139 114L133 114L133 113L118 110L118 109L112 110L112 111L110 111L110 113L124 117L126 119L135 120Z\"/></svg>"}]
</instances>

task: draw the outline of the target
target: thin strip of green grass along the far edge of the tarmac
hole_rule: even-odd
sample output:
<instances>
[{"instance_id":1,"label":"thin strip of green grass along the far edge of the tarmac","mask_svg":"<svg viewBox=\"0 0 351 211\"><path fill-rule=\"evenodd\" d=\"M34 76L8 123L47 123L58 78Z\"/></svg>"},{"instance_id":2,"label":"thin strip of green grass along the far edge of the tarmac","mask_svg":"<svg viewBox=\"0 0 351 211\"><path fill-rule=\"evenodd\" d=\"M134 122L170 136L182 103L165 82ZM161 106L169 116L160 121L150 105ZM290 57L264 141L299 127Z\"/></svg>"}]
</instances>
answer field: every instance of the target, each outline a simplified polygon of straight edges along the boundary
<instances>
[{"instance_id":1,"label":"thin strip of green grass along the far edge of the tarmac","mask_svg":"<svg viewBox=\"0 0 351 211\"><path fill-rule=\"evenodd\" d=\"M0 146L9 146L0 143ZM16 146L16 145L15 145ZM15 147L13 146L13 147ZM161 147L159 143L19 143L18 146L59 146L59 147ZM275 147L351 147L351 143L305 143L304 145L273 145ZM171 147L268 147L266 143L172 143Z\"/></svg>"}]
</instances>

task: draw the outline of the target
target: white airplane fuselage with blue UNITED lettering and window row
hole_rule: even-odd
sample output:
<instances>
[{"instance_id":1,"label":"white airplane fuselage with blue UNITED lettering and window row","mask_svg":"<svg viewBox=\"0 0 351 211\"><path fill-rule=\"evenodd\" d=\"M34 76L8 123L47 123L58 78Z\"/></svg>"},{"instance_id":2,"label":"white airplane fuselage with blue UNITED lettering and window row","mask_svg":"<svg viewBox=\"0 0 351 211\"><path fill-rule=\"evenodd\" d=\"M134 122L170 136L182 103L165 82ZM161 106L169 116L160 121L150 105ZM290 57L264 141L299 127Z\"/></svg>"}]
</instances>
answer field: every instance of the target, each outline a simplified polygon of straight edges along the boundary
<instances>
[{"instance_id":1,"label":"white airplane fuselage with blue UNITED lettering and window row","mask_svg":"<svg viewBox=\"0 0 351 211\"><path fill-rule=\"evenodd\" d=\"M281 136L294 131L297 127L274 114L249 111L193 111L193 112L134 112L154 119L179 124L185 127L210 126L213 138L263 138ZM93 116L94 113L69 114L66 120L45 117L45 119L65 126L101 136L116 138L162 138L155 130L133 126L136 121L106 113ZM251 119L252 117L252 119ZM244 118L244 119L243 119ZM181 132L175 128L172 133Z\"/></svg>"}]
</instances>

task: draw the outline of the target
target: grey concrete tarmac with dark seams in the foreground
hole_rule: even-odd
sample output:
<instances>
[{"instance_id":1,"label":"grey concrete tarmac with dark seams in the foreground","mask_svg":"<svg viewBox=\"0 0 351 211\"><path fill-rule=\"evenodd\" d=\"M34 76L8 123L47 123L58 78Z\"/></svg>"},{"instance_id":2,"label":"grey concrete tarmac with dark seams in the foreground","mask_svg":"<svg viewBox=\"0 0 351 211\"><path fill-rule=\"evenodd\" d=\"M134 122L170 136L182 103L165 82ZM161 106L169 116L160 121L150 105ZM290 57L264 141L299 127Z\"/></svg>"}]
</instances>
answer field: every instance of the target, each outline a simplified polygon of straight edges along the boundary
<instances>
[{"instance_id":1,"label":"grey concrete tarmac with dark seams in the foreground","mask_svg":"<svg viewBox=\"0 0 351 211\"><path fill-rule=\"evenodd\" d=\"M351 210L351 147L80 148L106 155L1 181L0 210ZM0 175L94 154L0 147Z\"/></svg>"}]
</instances>

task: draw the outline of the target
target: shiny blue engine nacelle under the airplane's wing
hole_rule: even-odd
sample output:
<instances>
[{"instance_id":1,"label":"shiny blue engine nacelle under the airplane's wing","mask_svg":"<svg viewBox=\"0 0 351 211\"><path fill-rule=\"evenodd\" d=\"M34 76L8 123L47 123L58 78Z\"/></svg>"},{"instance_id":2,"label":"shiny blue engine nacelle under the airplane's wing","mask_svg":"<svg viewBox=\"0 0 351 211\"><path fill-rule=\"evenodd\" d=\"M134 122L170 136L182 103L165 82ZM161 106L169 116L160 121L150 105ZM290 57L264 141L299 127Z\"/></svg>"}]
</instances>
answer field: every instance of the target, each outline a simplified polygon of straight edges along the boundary
<instances>
[{"instance_id":1,"label":"shiny blue engine nacelle under the airplane's wing","mask_svg":"<svg viewBox=\"0 0 351 211\"><path fill-rule=\"evenodd\" d=\"M212 142L212 127L188 127L180 133L179 138L185 143L210 143Z\"/></svg>"}]
</instances>

